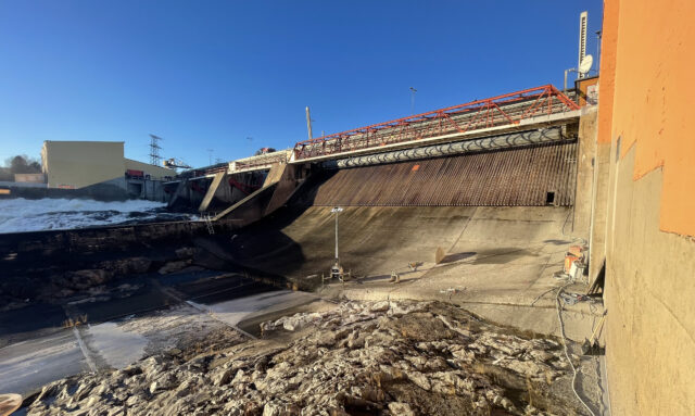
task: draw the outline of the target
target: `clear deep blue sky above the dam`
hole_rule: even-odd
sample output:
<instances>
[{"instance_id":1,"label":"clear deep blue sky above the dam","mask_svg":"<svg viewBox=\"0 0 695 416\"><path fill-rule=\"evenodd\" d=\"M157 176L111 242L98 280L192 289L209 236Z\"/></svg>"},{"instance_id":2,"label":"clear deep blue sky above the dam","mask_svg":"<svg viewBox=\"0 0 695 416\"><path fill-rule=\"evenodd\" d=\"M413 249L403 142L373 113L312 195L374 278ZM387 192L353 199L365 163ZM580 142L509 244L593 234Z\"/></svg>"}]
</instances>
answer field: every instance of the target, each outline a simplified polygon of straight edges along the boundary
<instances>
[{"instance_id":1,"label":"clear deep blue sky above the dam","mask_svg":"<svg viewBox=\"0 0 695 416\"><path fill-rule=\"evenodd\" d=\"M577 65L593 1L0 2L0 162L116 140L206 165L544 84ZM251 137L249 140L247 138Z\"/></svg>"}]
</instances>

